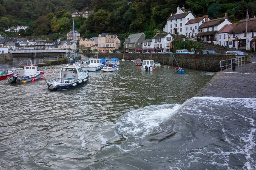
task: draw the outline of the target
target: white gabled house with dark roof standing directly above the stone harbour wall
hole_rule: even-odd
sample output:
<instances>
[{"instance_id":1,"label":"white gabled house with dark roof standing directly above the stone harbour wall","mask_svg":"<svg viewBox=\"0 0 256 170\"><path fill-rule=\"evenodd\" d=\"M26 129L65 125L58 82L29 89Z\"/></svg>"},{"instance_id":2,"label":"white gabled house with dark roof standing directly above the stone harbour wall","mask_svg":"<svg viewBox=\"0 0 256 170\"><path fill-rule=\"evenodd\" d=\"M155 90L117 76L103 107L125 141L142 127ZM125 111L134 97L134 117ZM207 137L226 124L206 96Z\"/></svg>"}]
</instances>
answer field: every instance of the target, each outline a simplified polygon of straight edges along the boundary
<instances>
[{"instance_id":1,"label":"white gabled house with dark roof standing directly above the stone harbour wall","mask_svg":"<svg viewBox=\"0 0 256 170\"><path fill-rule=\"evenodd\" d=\"M170 51L170 48L172 48L172 40L173 40L173 37L170 33L163 33L163 34L157 33L152 38L152 46L154 47L153 51L155 52Z\"/></svg>"}]
</instances>

